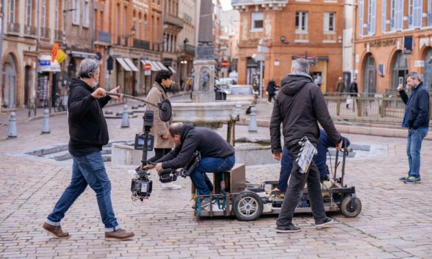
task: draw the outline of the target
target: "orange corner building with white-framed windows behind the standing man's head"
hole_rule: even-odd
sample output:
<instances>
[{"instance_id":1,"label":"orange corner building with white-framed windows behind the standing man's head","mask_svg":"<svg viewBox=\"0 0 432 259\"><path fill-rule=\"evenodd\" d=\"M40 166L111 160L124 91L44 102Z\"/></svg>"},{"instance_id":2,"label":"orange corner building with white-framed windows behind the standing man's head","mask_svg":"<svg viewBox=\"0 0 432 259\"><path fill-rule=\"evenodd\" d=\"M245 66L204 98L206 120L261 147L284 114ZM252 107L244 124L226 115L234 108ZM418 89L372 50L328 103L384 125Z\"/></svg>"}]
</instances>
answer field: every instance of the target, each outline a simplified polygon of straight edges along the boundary
<instances>
[{"instance_id":1,"label":"orange corner building with white-framed windows behind the standing man's head","mask_svg":"<svg viewBox=\"0 0 432 259\"><path fill-rule=\"evenodd\" d=\"M238 83L256 86L260 65L253 56L263 39L264 85L271 78L279 84L291 62L302 57L311 62L311 76L321 76L322 92L335 92L342 76L342 0L233 0L232 6L240 11Z\"/></svg>"}]
</instances>

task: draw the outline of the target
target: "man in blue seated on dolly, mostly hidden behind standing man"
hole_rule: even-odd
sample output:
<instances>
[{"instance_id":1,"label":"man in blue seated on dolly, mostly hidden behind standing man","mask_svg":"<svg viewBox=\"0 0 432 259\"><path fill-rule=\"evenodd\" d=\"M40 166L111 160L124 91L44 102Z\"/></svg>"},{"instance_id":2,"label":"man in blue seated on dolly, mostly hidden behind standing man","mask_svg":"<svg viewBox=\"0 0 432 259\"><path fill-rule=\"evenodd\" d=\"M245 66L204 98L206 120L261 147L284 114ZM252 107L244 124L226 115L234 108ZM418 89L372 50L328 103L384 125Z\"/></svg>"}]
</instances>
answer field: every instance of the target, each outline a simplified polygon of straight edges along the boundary
<instances>
[{"instance_id":1,"label":"man in blue seated on dolly, mostly hidden behind standing man","mask_svg":"<svg viewBox=\"0 0 432 259\"><path fill-rule=\"evenodd\" d=\"M342 136L342 141L347 143L347 147L351 144L348 138ZM342 147L344 146L342 143ZM336 144L331 141L329 134L325 130L320 130L320 136L318 137L318 142L316 149L318 154L313 156L313 162L315 162L318 172L320 172L321 182L325 180L326 176L329 175L329 168L327 167L327 150L329 147L336 147ZM293 158L286 147L282 151L282 159L280 160L280 174L278 187L274 191L287 191L288 178L291 174L291 169L293 168Z\"/></svg>"}]
</instances>

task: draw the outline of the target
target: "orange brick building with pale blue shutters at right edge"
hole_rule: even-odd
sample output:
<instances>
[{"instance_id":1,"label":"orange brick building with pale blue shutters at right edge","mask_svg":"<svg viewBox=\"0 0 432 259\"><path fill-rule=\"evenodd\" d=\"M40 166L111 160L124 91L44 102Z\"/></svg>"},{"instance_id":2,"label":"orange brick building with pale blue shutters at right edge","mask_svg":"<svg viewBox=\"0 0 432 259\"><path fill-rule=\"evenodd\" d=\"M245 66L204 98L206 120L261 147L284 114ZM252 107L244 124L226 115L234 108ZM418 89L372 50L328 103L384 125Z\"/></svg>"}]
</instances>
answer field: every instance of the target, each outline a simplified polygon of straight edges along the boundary
<instances>
[{"instance_id":1,"label":"orange brick building with pale blue shutters at right edge","mask_svg":"<svg viewBox=\"0 0 432 259\"><path fill-rule=\"evenodd\" d=\"M359 0L354 15L359 92L395 91L409 71L431 89L431 0Z\"/></svg>"}]
</instances>

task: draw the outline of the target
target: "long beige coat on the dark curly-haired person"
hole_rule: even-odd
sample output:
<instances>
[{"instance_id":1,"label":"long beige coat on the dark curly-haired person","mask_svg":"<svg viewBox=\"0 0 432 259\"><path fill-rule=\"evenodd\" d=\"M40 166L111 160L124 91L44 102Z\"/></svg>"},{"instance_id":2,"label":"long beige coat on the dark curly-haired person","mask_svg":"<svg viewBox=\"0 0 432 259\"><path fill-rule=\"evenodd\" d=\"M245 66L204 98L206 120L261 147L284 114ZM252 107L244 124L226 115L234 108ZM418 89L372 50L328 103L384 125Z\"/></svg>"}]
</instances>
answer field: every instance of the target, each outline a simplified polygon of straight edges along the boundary
<instances>
[{"instance_id":1,"label":"long beige coat on the dark curly-haired person","mask_svg":"<svg viewBox=\"0 0 432 259\"><path fill-rule=\"evenodd\" d=\"M164 99L168 99L167 93L163 90L163 86L159 83L154 82L152 89L149 94L147 94L147 101L150 103L161 103ZM154 121L153 127L150 133L154 136L154 148L172 148L174 144L171 143L168 139L163 139L163 134L168 132L168 127L172 123L172 117L169 118L169 121L161 121L159 118L159 109L152 106L146 105L147 110L154 111Z\"/></svg>"}]
</instances>

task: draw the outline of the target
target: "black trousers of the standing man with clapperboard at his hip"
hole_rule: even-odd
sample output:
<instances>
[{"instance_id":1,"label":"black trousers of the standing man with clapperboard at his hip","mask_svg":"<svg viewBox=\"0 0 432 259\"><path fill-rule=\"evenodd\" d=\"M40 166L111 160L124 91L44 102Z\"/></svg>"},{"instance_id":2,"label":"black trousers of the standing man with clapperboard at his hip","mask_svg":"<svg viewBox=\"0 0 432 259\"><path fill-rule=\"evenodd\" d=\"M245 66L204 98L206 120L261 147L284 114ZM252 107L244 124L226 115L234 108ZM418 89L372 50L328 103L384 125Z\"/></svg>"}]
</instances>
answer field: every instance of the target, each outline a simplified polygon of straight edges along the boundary
<instances>
[{"instance_id":1,"label":"black trousers of the standing man with clapperboard at his hip","mask_svg":"<svg viewBox=\"0 0 432 259\"><path fill-rule=\"evenodd\" d=\"M300 145L294 145L289 149L289 153L293 158L298 156ZM303 187L307 183L307 191L309 192L309 202L311 203L313 218L315 222L325 218L324 202L322 201L320 173L315 163L311 162L309 170L305 174L300 173L300 167L296 160L293 161L291 175L288 180L287 193L283 199L282 207L276 225L289 226L293 220L294 210L297 207L298 201L302 196Z\"/></svg>"}]
</instances>

